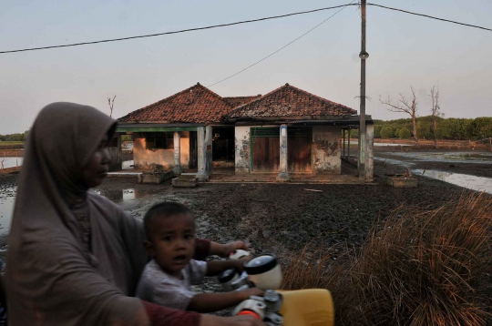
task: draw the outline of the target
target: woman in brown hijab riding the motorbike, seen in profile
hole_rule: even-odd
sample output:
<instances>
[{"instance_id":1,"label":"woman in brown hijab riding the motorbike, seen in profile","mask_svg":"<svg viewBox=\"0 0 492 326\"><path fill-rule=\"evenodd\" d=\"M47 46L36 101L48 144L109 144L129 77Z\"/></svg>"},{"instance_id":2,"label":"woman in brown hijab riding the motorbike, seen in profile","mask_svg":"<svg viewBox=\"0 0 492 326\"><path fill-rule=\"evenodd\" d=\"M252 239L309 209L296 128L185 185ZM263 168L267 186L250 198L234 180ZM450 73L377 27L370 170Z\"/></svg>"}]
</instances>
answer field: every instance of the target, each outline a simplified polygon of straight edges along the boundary
<instances>
[{"instance_id":1,"label":"woman in brown hijab riding the motorbike, seen in profile","mask_svg":"<svg viewBox=\"0 0 492 326\"><path fill-rule=\"evenodd\" d=\"M148 256L139 220L89 188L108 175L116 121L93 107L54 103L29 132L8 239L9 325L263 325L174 311L133 297ZM197 241L227 255L242 242ZM200 258L200 257L197 257Z\"/></svg>"}]
</instances>

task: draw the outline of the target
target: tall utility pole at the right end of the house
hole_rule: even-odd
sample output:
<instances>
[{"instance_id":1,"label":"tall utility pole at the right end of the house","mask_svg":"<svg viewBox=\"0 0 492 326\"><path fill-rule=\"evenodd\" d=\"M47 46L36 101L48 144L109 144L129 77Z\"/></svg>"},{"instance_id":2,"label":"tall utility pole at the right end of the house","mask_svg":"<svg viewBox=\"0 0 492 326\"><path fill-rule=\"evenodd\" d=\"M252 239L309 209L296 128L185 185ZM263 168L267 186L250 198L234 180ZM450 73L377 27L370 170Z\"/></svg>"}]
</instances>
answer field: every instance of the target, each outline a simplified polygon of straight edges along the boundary
<instances>
[{"instance_id":1,"label":"tall utility pole at the right end of the house","mask_svg":"<svg viewBox=\"0 0 492 326\"><path fill-rule=\"evenodd\" d=\"M361 112L359 123L359 180L365 181L365 59L369 54L365 51L365 2L361 0L362 35L361 35Z\"/></svg>"}]
</instances>

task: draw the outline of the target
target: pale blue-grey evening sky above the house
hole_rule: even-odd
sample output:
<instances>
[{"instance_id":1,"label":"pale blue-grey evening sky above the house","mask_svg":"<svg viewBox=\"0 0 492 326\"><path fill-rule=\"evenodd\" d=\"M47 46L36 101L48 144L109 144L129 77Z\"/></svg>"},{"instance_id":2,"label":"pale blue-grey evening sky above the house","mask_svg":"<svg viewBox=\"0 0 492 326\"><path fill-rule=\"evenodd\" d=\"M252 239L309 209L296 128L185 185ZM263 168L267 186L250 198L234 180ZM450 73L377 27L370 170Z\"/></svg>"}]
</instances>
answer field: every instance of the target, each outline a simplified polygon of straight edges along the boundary
<instances>
[{"instance_id":1,"label":"pale blue-grey evening sky above the house","mask_svg":"<svg viewBox=\"0 0 492 326\"><path fill-rule=\"evenodd\" d=\"M283 15L350 0L1 1L0 51L162 33ZM355 1L354 3L356 3ZM490 0L370 0L492 28ZM0 134L23 132L47 104L75 102L113 117L200 82L206 87L292 42L338 9L171 36L0 54ZM361 17L349 6L238 76L210 89L222 97L267 94L285 83L359 110ZM367 7L366 113L389 112L415 87L430 114L438 85L446 117L492 116L492 32Z\"/></svg>"}]
</instances>

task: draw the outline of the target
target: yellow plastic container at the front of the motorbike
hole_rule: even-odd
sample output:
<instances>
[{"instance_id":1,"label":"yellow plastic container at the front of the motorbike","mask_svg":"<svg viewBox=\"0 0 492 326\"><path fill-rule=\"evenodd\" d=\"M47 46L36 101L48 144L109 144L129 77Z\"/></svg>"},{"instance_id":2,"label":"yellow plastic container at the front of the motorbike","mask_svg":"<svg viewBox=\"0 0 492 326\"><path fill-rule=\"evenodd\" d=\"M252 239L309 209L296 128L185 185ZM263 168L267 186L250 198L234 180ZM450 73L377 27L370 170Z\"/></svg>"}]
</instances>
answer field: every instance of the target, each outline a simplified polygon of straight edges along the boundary
<instances>
[{"instance_id":1,"label":"yellow plastic container at the front of the motorbike","mask_svg":"<svg viewBox=\"0 0 492 326\"><path fill-rule=\"evenodd\" d=\"M333 326L332 294L323 289L278 290L283 304L283 326Z\"/></svg>"}]
</instances>

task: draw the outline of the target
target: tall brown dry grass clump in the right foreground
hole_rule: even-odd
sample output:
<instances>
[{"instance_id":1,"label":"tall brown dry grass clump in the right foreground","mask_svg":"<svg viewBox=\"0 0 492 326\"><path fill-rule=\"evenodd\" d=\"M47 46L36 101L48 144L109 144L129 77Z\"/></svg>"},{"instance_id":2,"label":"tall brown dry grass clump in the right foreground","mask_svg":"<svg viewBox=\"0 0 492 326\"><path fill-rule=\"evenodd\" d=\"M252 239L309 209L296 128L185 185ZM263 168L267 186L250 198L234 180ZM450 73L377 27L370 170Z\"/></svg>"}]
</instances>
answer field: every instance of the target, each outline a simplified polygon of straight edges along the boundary
<instances>
[{"instance_id":1,"label":"tall brown dry grass clump in the right foreground","mask_svg":"<svg viewBox=\"0 0 492 326\"><path fill-rule=\"evenodd\" d=\"M304 250L284 289L332 291L339 325L486 325L492 321L492 198L397 209L356 254Z\"/></svg>"}]
</instances>

